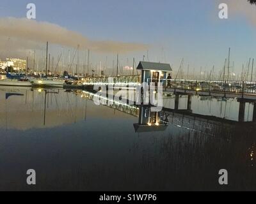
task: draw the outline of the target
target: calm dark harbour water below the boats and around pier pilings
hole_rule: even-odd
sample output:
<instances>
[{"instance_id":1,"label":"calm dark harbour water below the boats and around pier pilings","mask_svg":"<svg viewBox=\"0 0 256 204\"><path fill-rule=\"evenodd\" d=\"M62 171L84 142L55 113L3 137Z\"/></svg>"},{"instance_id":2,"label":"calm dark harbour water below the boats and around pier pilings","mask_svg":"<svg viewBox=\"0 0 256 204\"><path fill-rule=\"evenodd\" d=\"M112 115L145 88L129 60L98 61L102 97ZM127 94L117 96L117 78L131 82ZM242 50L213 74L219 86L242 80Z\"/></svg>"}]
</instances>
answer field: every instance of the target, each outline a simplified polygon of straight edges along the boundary
<instances>
[{"instance_id":1,"label":"calm dark harbour water below the boats and around pier pilings","mask_svg":"<svg viewBox=\"0 0 256 204\"><path fill-rule=\"evenodd\" d=\"M173 101L166 97L164 106ZM0 87L0 104L0 190L256 190L251 123L168 113L162 131L138 133L139 107L97 106L88 92L58 89ZM235 99L192 101L194 113L230 120L238 106ZM36 186L26 185L28 169L36 170ZM228 186L218 184L220 169L228 170Z\"/></svg>"}]
</instances>

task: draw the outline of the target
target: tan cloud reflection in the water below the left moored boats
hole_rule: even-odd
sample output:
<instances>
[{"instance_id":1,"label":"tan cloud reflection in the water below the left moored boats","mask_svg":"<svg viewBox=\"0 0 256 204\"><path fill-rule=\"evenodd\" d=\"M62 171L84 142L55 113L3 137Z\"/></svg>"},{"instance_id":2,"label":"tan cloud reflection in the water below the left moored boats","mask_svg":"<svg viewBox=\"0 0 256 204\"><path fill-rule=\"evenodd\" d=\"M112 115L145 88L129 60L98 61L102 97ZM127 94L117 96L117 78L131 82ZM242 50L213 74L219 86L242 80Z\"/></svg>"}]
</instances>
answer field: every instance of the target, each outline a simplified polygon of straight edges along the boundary
<instances>
[{"instance_id":1,"label":"tan cloud reflection in the water below the left moored boats","mask_svg":"<svg viewBox=\"0 0 256 204\"><path fill-rule=\"evenodd\" d=\"M0 87L0 128L49 128L84 120L81 91Z\"/></svg>"}]
</instances>

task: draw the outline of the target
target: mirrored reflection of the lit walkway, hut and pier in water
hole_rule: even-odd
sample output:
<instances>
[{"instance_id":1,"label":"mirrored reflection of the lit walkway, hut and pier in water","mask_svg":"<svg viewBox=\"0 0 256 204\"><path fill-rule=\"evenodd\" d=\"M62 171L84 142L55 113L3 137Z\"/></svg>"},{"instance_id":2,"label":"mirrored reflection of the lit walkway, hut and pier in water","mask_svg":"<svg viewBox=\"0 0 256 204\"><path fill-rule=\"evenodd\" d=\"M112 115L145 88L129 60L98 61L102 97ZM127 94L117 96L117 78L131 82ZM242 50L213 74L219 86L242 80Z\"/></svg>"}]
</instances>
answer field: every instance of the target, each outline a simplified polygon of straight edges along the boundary
<instances>
[{"instance_id":1,"label":"mirrored reflection of the lit walkway, hut and pier in water","mask_svg":"<svg viewBox=\"0 0 256 204\"><path fill-rule=\"evenodd\" d=\"M92 92L83 91L82 97L93 101L94 97L99 96ZM235 120L193 113L190 102L188 103L188 107L190 107L188 110L163 108L161 112L151 112L150 106L135 106L120 101L113 101L112 105L108 105L108 101L109 99L106 99L106 105L104 106L138 117L138 123L134 124L134 129L137 133L164 131L168 124L172 124L173 126L208 135L219 135L225 131L228 136L236 128L245 126L251 128L254 124L253 122L237 122Z\"/></svg>"}]
</instances>

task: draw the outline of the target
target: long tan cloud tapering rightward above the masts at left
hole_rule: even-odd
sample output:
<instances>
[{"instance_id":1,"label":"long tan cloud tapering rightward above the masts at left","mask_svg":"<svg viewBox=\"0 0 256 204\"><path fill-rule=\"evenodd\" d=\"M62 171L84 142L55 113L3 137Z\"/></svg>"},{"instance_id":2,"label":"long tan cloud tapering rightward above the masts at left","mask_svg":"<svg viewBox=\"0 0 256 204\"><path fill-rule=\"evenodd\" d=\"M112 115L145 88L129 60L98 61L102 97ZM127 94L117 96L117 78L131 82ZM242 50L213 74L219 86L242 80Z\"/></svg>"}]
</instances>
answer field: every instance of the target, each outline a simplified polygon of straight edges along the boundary
<instances>
[{"instance_id":1,"label":"long tan cloud tapering rightward above the masts at left","mask_svg":"<svg viewBox=\"0 0 256 204\"><path fill-rule=\"evenodd\" d=\"M1 39L11 38L17 41L15 48L30 49L38 46L38 43L46 43L61 45L65 47L90 48L95 52L107 53L127 53L147 50L148 45L142 43L125 43L118 41L95 41L83 36L83 34L69 31L60 25L51 24L49 22L37 22L36 20L28 20L27 18L0 18L0 45ZM36 44L37 43L37 44Z\"/></svg>"}]
</instances>

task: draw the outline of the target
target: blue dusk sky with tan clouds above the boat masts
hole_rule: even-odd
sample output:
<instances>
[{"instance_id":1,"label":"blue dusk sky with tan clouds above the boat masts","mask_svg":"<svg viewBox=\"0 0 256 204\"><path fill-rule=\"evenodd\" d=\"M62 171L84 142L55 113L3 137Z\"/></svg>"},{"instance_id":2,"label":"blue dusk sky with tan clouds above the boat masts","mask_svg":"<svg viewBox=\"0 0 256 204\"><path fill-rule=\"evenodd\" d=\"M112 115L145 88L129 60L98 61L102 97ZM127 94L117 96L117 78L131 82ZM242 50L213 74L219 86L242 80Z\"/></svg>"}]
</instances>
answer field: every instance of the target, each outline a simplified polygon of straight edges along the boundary
<instances>
[{"instance_id":1,"label":"blue dusk sky with tan clouds above the boat masts","mask_svg":"<svg viewBox=\"0 0 256 204\"><path fill-rule=\"evenodd\" d=\"M22 22L28 3L36 5L35 24ZM228 4L228 19L218 17L220 3ZM81 42L81 61L83 50L90 48L95 64L107 61L112 67L118 53L124 66L131 66L133 57L138 63L145 55L145 60L170 63L175 70L184 58L184 67L189 64L198 71L202 66L209 71L212 66L223 68L230 47L230 61L239 72L250 57L256 58L254 19L256 6L246 0L1 0L0 58L10 50L12 55L23 56L34 49L42 57L49 38L50 43L60 44L51 46L51 52L58 55L64 47L65 59L68 49L74 54L77 40ZM28 27L20 34L22 38L19 27Z\"/></svg>"}]
</instances>

